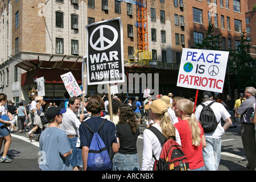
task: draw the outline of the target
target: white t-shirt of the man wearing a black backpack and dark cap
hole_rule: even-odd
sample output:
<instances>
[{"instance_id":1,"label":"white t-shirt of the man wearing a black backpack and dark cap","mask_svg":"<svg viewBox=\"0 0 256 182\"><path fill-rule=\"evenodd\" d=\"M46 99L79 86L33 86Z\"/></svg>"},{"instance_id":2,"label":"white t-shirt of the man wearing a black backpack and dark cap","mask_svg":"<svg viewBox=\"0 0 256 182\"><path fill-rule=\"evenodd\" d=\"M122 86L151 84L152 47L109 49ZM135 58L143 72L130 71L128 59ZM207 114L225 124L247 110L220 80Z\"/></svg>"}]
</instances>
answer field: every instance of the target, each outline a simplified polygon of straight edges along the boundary
<instances>
[{"instance_id":1,"label":"white t-shirt of the man wearing a black backpack and dark cap","mask_svg":"<svg viewBox=\"0 0 256 182\"><path fill-rule=\"evenodd\" d=\"M212 102L212 101L206 101L203 104L205 104L205 105L210 104L210 102ZM217 129L215 131L213 131L212 133L204 133L204 136L209 137L209 138L219 139L225 133L224 128L221 126L221 118L224 119L224 121L225 121L226 119L230 118L231 115L225 109L224 105L222 105L218 102L214 102L210 106L210 108L212 108L212 110L216 116L217 122L219 122L219 123L218 123ZM196 109L195 116L196 116L197 120L199 120L200 113L201 113L202 109L203 109L203 106L201 106L201 105L199 105Z\"/></svg>"}]
</instances>

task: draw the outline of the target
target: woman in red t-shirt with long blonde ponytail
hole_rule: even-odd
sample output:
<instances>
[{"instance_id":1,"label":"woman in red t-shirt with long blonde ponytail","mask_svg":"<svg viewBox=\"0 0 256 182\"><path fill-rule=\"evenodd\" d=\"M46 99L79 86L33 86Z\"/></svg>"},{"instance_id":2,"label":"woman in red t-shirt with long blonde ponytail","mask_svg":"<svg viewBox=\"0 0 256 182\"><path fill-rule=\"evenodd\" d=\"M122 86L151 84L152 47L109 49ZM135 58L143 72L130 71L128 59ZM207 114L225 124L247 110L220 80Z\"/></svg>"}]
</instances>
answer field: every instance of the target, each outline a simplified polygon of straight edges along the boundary
<instances>
[{"instance_id":1,"label":"woman in red t-shirt with long blonde ponytail","mask_svg":"<svg viewBox=\"0 0 256 182\"><path fill-rule=\"evenodd\" d=\"M204 130L196 121L192 102L188 99L177 101L175 114L176 117L181 118L181 121L175 123L174 126L179 131L183 152L188 158L189 169L205 171L203 147L206 147L206 141Z\"/></svg>"}]
</instances>

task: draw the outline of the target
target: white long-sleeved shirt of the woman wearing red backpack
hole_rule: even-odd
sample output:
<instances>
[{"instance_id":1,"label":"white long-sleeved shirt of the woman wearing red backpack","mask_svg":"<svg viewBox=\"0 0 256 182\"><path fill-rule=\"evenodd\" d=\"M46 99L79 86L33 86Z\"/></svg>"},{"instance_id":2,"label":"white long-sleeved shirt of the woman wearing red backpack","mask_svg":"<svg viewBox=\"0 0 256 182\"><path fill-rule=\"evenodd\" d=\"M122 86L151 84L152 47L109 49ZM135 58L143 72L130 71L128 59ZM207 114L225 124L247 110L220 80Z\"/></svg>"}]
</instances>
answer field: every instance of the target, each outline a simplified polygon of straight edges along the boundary
<instances>
[{"instance_id":1,"label":"white long-sleeved shirt of the woman wearing red backpack","mask_svg":"<svg viewBox=\"0 0 256 182\"><path fill-rule=\"evenodd\" d=\"M159 123L155 123L151 127L156 127L162 132ZM181 145L179 132L176 129L176 142ZM162 151L161 143L154 133L150 130L144 130L143 132L143 159L142 159L142 171L152 171L155 159L152 157L155 155L156 159L159 159Z\"/></svg>"}]
</instances>

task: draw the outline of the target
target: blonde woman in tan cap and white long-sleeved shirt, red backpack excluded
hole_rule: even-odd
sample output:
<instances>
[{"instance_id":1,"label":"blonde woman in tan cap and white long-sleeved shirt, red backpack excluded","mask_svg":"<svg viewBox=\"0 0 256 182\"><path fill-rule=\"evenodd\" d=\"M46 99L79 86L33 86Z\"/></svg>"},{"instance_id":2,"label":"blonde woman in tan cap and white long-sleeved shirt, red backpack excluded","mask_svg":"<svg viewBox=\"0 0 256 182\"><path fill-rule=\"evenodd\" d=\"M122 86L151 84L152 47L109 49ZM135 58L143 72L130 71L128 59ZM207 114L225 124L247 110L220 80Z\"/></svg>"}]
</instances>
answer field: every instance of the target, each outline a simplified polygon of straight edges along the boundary
<instances>
[{"instance_id":1,"label":"blonde woman in tan cap and white long-sleeved shirt, red backpack excluded","mask_svg":"<svg viewBox=\"0 0 256 182\"><path fill-rule=\"evenodd\" d=\"M149 109L149 116L154 124L151 127L159 130L167 139L176 139L180 143L179 133L174 127L168 114L167 104L163 100L154 100L150 105L146 105L145 109ZM158 137L149 129L143 132L143 158L142 171L152 171L155 159L159 159L162 144ZM154 156L154 157L153 157Z\"/></svg>"}]
</instances>

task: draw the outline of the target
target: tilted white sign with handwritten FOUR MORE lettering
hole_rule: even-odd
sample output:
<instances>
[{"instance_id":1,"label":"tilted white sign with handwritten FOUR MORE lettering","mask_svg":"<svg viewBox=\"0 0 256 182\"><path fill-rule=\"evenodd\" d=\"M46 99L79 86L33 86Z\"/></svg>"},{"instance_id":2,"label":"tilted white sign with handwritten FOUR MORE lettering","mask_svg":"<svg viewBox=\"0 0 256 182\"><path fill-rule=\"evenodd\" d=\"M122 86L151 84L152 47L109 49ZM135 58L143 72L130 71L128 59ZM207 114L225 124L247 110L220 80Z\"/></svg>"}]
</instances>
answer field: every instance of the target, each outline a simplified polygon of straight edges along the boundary
<instances>
[{"instance_id":1,"label":"tilted white sign with handwritten FOUR MORE lettering","mask_svg":"<svg viewBox=\"0 0 256 182\"><path fill-rule=\"evenodd\" d=\"M65 73L60 76L65 88L67 89L69 96L80 96L82 94L82 90L80 86L77 84L75 77L71 72Z\"/></svg>"}]
</instances>

